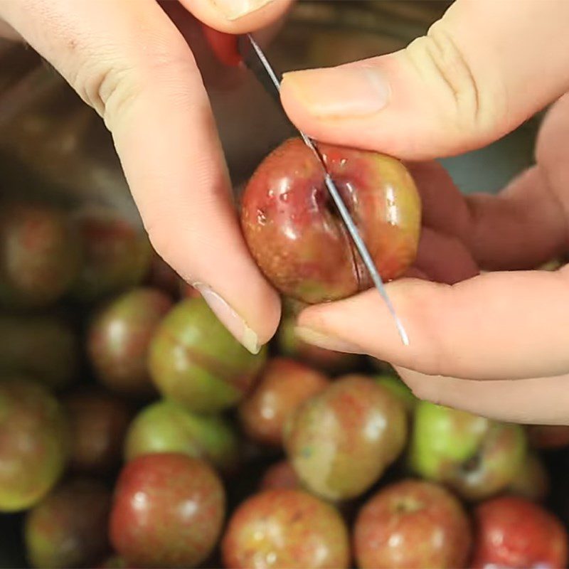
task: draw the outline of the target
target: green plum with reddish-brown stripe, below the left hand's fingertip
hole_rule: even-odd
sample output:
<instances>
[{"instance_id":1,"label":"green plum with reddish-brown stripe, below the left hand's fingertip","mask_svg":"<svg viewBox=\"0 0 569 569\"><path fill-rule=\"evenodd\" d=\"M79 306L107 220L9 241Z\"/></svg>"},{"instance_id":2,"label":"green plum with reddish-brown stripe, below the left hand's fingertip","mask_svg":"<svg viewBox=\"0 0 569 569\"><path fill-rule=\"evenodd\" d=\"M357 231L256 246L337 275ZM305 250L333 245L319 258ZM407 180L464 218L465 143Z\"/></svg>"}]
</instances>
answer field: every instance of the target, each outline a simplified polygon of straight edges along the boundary
<instances>
[{"instance_id":1,"label":"green plum with reddish-brown stripe, below the left hand's fingertip","mask_svg":"<svg viewBox=\"0 0 569 569\"><path fill-rule=\"evenodd\" d=\"M198 413L236 405L266 360L263 348L248 352L201 298L176 304L156 329L149 366L165 398Z\"/></svg>"}]
</instances>

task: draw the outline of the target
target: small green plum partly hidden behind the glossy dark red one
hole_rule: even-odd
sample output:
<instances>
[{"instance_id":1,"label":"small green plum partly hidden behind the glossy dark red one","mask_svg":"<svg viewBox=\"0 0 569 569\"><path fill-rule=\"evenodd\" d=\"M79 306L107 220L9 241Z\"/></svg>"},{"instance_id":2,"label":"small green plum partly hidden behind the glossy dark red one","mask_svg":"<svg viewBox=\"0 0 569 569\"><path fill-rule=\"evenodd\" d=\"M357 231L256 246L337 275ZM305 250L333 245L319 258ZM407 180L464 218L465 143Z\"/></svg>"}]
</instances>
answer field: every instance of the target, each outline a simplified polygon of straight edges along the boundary
<instances>
[{"instance_id":1,"label":"small green plum partly hidden behind the glossy dark red one","mask_svg":"<svg viewBox=\"0 0 569 569\"><path fill-rule=\"evenodd\" d=\"M225 418L198 415L164 400L139 412L124 446L127 460L153 452L181 452L228 472L238 464L239 441Z\"/></svg>"}]
</instances>

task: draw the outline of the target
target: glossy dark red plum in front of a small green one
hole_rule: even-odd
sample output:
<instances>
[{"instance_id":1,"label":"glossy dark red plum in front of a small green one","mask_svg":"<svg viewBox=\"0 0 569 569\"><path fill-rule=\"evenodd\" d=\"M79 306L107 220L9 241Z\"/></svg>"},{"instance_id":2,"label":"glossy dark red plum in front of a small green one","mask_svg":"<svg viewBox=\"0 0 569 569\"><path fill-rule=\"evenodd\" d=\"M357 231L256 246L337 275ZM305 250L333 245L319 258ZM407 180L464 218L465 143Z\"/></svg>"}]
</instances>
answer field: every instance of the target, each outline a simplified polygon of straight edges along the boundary
<instances>
[{"instance_id":1,"label":"glossy dark red plum in front of a small green one","mask_svg":"<svg viewBox=\"0 0 569 569\"><path fill-rule=\"evenodd\" d=\"M216 472L186 454L147 454L129 462L115 487L110 537L137 568L191 568L211 553L225 515Z\"/></svg>"}]
</instances>

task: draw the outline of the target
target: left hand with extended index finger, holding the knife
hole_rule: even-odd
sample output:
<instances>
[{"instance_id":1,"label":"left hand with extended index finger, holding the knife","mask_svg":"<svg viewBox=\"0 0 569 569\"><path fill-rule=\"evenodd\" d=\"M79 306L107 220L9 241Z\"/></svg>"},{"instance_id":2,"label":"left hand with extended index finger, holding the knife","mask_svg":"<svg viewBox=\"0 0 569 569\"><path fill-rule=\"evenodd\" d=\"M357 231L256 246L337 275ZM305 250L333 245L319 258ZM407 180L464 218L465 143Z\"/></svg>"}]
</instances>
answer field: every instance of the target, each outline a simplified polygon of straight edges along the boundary
<instances>
[{"instance_id":1,"label":"left hand with extended index finger, holding the knife","mask_svg":"<svg viewBox=\"0 0 569 569\"><path fill-rule=\"evenodd\" d=\"M280 301L241 235L208 96L181 31L188 11L218 31L255 31L290 0L181 4L187 11L173 1L3 0L0 33L19 34L97 110L154 248L256 351L275 331Z\"/></svg>"}]
</instances>

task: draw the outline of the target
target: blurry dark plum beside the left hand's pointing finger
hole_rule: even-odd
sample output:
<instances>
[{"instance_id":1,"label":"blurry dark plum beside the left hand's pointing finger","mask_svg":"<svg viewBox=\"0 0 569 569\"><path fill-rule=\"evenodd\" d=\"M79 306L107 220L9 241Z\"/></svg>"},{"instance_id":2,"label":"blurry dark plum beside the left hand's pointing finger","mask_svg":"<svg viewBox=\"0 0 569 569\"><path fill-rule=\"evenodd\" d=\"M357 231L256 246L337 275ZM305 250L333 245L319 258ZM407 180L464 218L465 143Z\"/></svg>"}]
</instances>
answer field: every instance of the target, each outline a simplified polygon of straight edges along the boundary
<instances>
[{"instance_id":1,"label":"blurry dark plum beside the left hand's pointing finger","mask_svg":"<svg viewBox=\"0 0 569 569\"><path fill-rule=\"evenodd\" d=\"M115 211L85 210L76 222L83 264L73 296L93 302L139 285L148 274L152 248L142 231Z\"/></svg>"}]
</instances>

